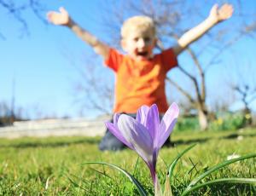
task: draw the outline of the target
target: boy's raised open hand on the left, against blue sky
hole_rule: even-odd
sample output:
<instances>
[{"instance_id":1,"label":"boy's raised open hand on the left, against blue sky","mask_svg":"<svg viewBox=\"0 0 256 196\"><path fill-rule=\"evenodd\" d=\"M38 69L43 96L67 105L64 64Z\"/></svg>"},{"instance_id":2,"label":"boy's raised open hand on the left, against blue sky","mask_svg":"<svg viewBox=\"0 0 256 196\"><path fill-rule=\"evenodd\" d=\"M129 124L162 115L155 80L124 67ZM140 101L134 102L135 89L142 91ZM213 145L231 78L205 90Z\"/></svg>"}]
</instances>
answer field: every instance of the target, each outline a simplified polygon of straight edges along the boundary
<instances>
[{"instance_id":1,"label":"boy's raised open hand on the left, against blue sky","mask_svg":"<svg viewBox=\"0 0 256 196\"><path fill-rule=\"evenodd\" d=\"M62 7L59 10L60 12L54 12L54 11L48 12L47 18L49 22L51 22L54 25L67 26L68 23L70 22L70 18L67 13L67 10Z\"/></svg>"}]
</instances>

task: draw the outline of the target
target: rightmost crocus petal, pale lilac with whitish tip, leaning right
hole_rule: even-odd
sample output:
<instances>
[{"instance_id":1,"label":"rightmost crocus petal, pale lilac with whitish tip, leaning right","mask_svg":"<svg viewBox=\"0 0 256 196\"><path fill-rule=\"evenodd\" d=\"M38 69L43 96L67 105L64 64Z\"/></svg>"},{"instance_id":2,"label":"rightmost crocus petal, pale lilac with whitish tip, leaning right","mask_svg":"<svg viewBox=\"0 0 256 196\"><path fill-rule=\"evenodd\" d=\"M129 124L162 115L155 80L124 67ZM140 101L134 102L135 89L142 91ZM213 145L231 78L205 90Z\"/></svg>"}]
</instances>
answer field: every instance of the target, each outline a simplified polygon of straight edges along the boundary
<instances>
[{"instance_id":1,"label":"rightmost crocus petal, pale lilac with whitish tip, leaning right","mask_svg":"<svg viewBox=\"0 0 256 196\"><path fill-rule=\"evenodd\" d=\"M163 146L163 144L166 142L167 138L172 132L172 129L177 121L177 116L179 113L179 109L177 107L176 103L172 103L171 107L167 110L164 117L162 118L160 122L160 128L159 128L159 136L158 136L158 145L157 147L160 148Z\"/></svg>"}]
</instances>

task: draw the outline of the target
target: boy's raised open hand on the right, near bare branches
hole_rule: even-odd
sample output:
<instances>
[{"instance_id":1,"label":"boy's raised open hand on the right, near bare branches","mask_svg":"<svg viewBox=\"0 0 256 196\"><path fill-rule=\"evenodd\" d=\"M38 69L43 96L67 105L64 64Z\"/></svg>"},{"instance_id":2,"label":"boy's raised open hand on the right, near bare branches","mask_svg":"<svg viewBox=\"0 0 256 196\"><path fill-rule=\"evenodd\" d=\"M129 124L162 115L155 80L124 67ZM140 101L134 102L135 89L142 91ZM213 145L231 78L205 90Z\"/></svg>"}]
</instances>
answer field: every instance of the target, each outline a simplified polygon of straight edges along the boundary
<instances>
[{"instance_id":1,"label":"boy's raised open hand on the right, near bare branches","mask_svg":"<svg viewBox=\"0 0 256 196\"><path fill-rule=\"evenodd\" d=\"M214 22L218 23L222 20L229 19L233 14L233 6L231 4L225 3L218 9L218 4L212 6L209 14L209 18Z\"/></svg>"}]
</instances>

